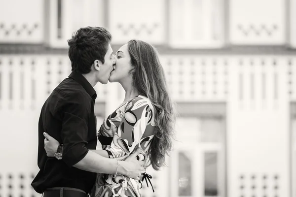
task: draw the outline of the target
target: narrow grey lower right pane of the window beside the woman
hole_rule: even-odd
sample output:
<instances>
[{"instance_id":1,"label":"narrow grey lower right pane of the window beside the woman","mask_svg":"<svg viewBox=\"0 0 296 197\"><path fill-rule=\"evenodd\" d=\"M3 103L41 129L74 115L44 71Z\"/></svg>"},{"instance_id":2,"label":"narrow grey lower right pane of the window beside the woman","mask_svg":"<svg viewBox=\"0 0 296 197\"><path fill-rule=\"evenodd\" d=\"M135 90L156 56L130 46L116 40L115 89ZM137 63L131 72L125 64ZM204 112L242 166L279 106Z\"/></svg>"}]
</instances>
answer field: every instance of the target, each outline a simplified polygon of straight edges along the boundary
<instances>
[{"instance_id":1,"label":"narrow grey lower right pane of the window beside the woman","mask_svg":"<svg viewBox=\"0 0 296 197\"><path fill-rule=\"evenodd\" d=\"M205 173L204 186L205 196L218 196L217 153L208 152L204 155Z\"/></svg>"}]
</instances>

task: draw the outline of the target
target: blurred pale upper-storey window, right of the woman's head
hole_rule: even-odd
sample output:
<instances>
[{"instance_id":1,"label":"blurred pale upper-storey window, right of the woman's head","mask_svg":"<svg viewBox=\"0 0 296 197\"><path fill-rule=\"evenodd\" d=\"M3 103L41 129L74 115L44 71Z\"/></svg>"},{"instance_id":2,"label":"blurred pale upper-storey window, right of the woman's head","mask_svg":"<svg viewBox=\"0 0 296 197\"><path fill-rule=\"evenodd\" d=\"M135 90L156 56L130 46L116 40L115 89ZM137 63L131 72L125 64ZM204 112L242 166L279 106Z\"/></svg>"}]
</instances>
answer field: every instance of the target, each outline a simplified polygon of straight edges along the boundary
<instances>
[{"instance_id":1,"label":"blurred pale upper-storey window, right of the woman's head","mask_svg":"<svg viewBox=\"0 0 296 197\"><path fill-rule=\"evenodd\" d=\"M170 0L170 45L180 48L222 47L223 4L223 0Z\"/></svg>"}]
</instances>

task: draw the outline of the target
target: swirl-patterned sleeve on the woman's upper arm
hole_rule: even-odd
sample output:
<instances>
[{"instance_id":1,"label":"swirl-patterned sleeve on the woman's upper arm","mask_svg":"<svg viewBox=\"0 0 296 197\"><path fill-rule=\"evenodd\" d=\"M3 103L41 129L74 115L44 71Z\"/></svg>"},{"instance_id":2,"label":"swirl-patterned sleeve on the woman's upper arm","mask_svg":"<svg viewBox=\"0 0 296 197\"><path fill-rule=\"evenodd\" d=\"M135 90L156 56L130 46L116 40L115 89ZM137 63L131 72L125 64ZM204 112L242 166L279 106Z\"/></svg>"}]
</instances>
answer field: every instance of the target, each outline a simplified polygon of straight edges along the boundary
<instances>
[{"instance_id":1,"label":"swirl-patterned sleeve on the woman's upper arm","mask_svg":"<svg viewBox=\"0 0 296 197\"><path fill-rule=\"evenodd\" d=\"M106 148L109 157L125 160L135 148L138 148L151 116L147 101L139 98L129 101L117 133L114 134L111 145ZM148 132L153 132L152 127Z\"/></svg>"}]
</instances>

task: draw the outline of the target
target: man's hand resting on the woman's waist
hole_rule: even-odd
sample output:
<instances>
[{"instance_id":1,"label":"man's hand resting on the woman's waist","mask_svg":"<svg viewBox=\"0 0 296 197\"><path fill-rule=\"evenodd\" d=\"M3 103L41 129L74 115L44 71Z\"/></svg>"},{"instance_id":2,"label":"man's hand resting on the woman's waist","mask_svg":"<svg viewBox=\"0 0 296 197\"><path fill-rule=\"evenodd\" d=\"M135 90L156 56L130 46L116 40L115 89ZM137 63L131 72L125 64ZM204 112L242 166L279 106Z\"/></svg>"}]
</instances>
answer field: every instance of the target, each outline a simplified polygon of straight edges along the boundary
<instances>
[{"instance_id":1,"label":"man's hand resting on the woman's waist","mask_svg":"<svg viewBox=\"0 0 296 197\"><path fill-rule=\"evenodd\" d=\"M145 162L137 160L137 156L141 153L141 151L142 149L138 148L128 158L120 162L118 167L118 174L140 180L139 176L141 176L141 171L145 171Z\"/></svg>"}]
</instances>

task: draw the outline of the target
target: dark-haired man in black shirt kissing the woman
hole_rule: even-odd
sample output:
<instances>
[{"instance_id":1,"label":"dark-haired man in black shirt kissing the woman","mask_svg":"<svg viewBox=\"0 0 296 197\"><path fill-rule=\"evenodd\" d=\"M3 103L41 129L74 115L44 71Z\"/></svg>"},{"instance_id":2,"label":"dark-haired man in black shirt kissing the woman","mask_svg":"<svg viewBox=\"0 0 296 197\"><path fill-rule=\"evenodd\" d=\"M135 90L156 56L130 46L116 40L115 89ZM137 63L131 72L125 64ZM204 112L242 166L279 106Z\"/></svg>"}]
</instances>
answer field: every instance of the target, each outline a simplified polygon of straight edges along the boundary
<instances>
[{"instance_id":1,"label":"dark-haired man in black shirt kissing the woman","mask_svg":"<svg viewBox=\"0 0 296 197\"><path fill-rule=\"evenodd\" d=\"M45 101L38 123L40 170L32 186L44 197L86 197L96 173L139 180L144 170L144 162L136 160L139 152L118 162L89 151L97 145L93 87L97 82L107 84L115 64L110 42L111 34L99 27L81 28L68 40L72 73ZM46 156L43 132L61 143L56 158Z\"/></svg>"}]
</instances>

